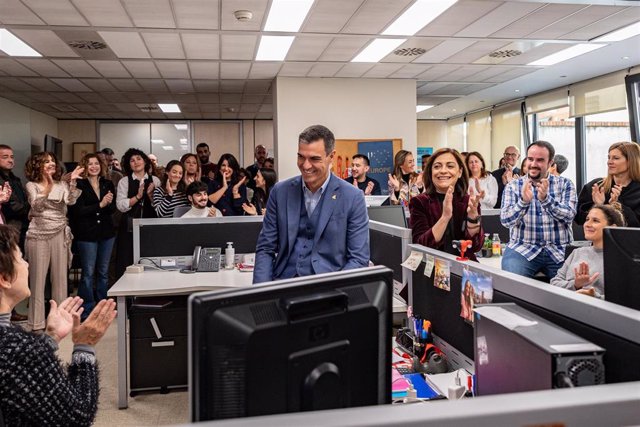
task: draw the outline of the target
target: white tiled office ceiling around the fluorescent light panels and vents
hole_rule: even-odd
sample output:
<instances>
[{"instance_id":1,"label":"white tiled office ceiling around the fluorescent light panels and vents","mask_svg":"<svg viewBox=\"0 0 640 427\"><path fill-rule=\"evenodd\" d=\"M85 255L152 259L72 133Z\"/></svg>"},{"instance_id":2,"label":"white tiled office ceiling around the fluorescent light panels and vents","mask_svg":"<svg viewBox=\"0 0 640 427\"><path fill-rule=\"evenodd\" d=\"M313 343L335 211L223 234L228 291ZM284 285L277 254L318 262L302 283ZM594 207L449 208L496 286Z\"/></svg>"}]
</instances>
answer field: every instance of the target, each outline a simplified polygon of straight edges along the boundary
<instances>
[{"instance_id":1,"label":"white tiled office ceiling around the fluorescent light panels and vents","mask_svg":"<svg viewBox=\"0 0 640 427\"><path fill-rule=\"evenodd\" d=\"M459 0L400 46L424 54L350 62L412 3L315 0L285 61L256 62L267 0L0 0L0 27L43 55L0 51L0 96L61 119L269 119L276 76L393 78L415 80L417 103L437 105L418 117L447 118L640 64L635 37L526 65L640 21L640 2L620 0ZM237 21L240 9L253 19ZM68 45L78 40L107 48ZM522 55L487 60L512 48ZM181 114L138 106L174 102Z\"/></svg>"}]
</instances>

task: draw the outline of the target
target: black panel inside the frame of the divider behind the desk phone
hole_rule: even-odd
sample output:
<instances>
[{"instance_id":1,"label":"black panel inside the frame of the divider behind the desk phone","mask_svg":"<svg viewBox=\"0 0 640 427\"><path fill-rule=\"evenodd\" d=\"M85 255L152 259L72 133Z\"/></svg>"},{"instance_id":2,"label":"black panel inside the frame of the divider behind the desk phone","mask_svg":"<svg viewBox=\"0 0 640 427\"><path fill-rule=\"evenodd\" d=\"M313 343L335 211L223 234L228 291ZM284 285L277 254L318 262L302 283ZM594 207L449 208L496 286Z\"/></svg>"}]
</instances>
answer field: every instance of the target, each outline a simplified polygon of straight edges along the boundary
<instances>
[{"instance_id":1,"label":"black panel inside the frame of the divider behind the desk phone","mask_svg":"<svg viewBox=\"0 0 640 427\"><path fill-rule=\"evenodd\" d=\"M140 257L191 255L195 246L224 248L227 242L236 253L249 254L256 251L260 230L261 221L147 224L140 226Z\"/></svg>"}]
</instances>

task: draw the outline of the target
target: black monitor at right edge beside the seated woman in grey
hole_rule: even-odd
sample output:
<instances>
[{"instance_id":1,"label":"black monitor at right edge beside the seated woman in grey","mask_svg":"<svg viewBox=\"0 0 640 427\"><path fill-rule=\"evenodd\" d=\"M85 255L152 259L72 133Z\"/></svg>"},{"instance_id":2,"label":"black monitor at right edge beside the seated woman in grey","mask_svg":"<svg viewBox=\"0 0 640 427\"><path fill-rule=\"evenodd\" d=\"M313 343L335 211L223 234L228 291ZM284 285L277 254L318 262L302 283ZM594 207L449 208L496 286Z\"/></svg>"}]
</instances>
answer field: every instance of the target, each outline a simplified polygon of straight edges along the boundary
<instances>
[{"instance_id":1,"label":"black monitor at right edge beside the seated woman in grey","mask_svg":"<svg viewBox=\"0 0 640 427\"><path fill-rule=\"evenodd\" d=\"M640 310L640 229L604 229L604 299Z\"/></svg>"}]
</instances>

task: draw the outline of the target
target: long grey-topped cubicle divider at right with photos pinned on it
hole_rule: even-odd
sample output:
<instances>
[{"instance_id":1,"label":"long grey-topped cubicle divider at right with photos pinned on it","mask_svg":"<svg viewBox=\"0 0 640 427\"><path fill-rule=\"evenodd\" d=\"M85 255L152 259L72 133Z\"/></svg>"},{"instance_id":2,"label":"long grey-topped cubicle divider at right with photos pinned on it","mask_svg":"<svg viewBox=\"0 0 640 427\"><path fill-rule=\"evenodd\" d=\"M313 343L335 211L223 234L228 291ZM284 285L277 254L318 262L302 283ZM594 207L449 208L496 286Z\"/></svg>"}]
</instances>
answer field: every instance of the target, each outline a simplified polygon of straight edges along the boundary
<instances>
[{"instance_id":1,"label":"long grey-topped cubicle divider at right with photos pinned on it","mask_svg":"<svg viewBox=\"0 0 640 427\"><path fill-rule=\"evenodd\" d=\"M468 359L473 359L473 325L460 317L463 268L490 275L493 302L514 302L594 344L606 349L607 383L640 380L640 311L600 299L579 295L495 269L476 262L457 261L455 256L421 245L410 250L444 260L450 265L451 291L433 286L424 275L423 262L413 273L413 312L432 321L433 333Z\"/></svg>"}]
</instances>

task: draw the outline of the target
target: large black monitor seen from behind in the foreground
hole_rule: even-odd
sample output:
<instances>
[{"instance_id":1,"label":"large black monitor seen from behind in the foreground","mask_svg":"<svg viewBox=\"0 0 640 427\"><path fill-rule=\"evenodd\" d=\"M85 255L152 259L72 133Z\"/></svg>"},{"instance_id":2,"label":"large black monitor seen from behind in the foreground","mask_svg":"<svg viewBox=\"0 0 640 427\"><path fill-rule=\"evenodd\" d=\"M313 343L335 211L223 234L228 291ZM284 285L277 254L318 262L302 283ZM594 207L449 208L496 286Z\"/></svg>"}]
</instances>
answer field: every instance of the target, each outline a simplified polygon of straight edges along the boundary
<instances>
[{"instance_id":1,"label":"large black monitor seen from behind in the foreground","mask_svg":"<svg viewBox=\"0 0 640 427\"><path fill-rule=\"evenodd\" d=\"M392 271L189 298L191 421L390 403Z\"/></svg>"}]
</instances>

